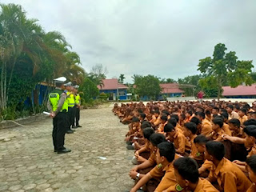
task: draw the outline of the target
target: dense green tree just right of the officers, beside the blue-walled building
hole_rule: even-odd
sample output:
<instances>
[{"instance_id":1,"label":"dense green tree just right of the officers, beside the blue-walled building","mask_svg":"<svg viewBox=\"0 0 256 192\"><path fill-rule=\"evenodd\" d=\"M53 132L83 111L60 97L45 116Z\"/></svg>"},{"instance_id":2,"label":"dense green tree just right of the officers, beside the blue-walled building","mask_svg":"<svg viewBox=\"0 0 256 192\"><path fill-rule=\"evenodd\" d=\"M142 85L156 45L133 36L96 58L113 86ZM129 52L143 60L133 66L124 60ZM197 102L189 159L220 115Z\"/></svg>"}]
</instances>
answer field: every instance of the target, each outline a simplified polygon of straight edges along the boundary
<instances>
[{"instance_id":1,"label":"dense green tree just right of the officers, beside the blue-walled building","mask_svg":"<svg viewBox=\"0 0 256 192\"><path fill-rule=\"evenodd\" d=\"M82 91L82 98L85 102L90 102L91 99L98 97L99 90L98 87L90 80L90 78L85 78L82 85L79 87L79 91Z\"/></svg>"}]
</instances>

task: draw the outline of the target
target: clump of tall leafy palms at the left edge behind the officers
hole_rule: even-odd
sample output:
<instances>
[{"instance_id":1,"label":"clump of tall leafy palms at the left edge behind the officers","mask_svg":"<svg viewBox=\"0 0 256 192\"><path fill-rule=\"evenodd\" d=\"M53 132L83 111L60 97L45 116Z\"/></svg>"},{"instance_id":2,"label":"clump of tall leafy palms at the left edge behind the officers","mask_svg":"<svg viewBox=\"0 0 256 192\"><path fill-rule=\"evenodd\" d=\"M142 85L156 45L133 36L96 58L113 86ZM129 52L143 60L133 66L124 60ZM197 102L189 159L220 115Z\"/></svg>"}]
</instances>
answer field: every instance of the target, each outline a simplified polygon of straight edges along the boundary
<instances>
[{"instance_id":1,"label":"clump of tall leafy palms at the left edge behind the officers","mask_svg":"<svg viewBox=\"0 0 256 192\"><path fill-rule=\"evenodd\" d=\"M38 82L50 84L62 75L83 80L78 54L70 48L61 33L46 33L37 19L26 18L22 6L0 4L0 112L15 109Z\"/></svg>"}]
</instances>

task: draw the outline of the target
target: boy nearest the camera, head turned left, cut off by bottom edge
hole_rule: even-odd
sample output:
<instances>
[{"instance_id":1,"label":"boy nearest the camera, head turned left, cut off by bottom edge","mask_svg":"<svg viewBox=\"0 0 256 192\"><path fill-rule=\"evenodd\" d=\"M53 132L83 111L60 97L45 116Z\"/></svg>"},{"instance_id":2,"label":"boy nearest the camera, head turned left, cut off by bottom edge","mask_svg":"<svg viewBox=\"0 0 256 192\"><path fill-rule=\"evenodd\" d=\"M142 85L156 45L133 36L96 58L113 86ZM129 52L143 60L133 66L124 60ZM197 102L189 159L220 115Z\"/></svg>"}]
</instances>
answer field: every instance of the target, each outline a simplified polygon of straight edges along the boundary
<instances>
[{"instance_id":1,"label":"boy nearest the camera, head turned left, cut off by bottom edge","mask_svg":"<svg viewBox=\"0 0 256 192\"><path fill-rule=\"evenodd\" d=\"M205 178L199 178L198 165L193 158L178 158L174 161L174 173L178 184L168 191L218 192Z\"/></svg>"}]
</instances>

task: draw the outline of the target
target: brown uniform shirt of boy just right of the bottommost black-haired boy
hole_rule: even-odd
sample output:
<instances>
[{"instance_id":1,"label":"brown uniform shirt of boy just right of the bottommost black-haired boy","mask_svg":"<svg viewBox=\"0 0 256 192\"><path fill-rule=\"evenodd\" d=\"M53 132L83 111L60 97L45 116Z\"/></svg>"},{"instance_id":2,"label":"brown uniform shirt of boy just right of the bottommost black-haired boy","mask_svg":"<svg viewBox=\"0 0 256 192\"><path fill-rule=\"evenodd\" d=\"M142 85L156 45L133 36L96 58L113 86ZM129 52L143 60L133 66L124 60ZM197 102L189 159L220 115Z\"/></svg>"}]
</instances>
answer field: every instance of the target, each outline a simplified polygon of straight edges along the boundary
<instances>
[{"instance_id":1,"label":"brown uniform shirt of boy just right of the bottommost black-haired boy","mask_svg":"<svg viewBox=\"0 0 256 192\"><path fill-rule=\"evenodd\" d=\"M210 182L217 180L222 190L230 192L244 192L251 185L242 170L226 158L223 158L217 167L212 166L208 178Z\"/></svg>"}]
</instances>

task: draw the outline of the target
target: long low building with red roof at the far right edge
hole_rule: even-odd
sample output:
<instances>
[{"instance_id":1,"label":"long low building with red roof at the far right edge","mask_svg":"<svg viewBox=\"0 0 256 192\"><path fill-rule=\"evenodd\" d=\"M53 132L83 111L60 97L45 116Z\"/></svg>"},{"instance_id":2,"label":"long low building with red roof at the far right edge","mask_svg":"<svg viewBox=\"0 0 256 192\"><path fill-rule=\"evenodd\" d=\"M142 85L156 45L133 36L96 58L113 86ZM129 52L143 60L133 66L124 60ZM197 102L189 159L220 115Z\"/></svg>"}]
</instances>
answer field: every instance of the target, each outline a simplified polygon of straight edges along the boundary
<instances>
[{"instance_id":1,"label":"long low building with red roof at the far right edge","mask_svg":"<svg viewBox=\"0 0 256 192\"><path fill-rule=\"evenodd\" d=\"M235 88L222 86L222 90L224 98L256 98L256 84L251 86L242 85Z\"/></svg>"}]
</instances>

